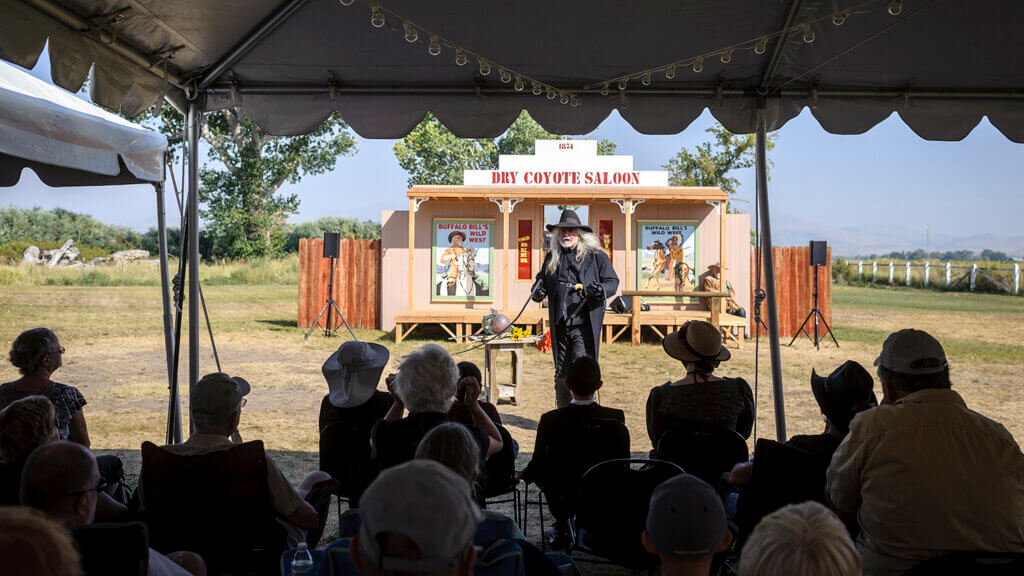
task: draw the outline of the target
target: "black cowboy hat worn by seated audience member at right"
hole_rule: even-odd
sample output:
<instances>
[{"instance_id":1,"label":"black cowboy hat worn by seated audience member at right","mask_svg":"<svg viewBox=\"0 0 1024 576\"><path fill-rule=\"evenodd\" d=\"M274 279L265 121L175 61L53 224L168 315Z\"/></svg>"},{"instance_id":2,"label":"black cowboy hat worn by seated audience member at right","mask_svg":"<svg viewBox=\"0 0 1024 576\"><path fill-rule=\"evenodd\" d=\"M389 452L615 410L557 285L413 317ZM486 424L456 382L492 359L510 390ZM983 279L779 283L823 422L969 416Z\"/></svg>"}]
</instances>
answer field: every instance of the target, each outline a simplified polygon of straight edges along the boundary
<instances>
[{"instance_id":1,"label":"black cowboy hat worn by seated audience member at right","mask_svg":"<svg viewBox=\"0 0 1024 576\"><path fill-rule=\"evenodd\" d=\"M811 369L811 390L821 413L840 431L848 431L858 413L879 405L874 397L874 380L863 366L849 360L828 376L819 376Z\"/></svg>"}]
</instances>

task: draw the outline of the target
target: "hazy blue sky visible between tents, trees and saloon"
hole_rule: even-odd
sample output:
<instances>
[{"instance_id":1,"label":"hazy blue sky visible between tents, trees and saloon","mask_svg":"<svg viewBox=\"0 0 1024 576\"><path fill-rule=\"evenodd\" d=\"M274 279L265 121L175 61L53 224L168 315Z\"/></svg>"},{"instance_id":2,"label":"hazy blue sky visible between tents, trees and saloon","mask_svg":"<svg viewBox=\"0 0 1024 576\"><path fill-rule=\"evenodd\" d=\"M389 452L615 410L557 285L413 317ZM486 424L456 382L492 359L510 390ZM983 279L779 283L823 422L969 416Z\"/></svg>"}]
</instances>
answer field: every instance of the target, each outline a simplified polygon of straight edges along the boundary
<instances>
[{"instance_id":1,"label":"hazy blue sky visible between tents, trees and saloon","mask_svg":"<svg viewBox=\"0 0 1024 576\"><path fill-rule=\"evenodd\" d=\"M44 53L34 75L47 81ZM706 139L714 118L705 113L671 136L636 132L612 113L588 137L609 138L635 167L657 170L683 147ZM408 206L407 174L394 158L394 140L358 139L358 153L338 160L329 174L286 184L301 200L293 221L324 215L380 220L381 210ZM769 159L773 233L778 245L827 240L838 255L925 248L992 248L1024 255L1024 148L987 120L963 141L926 141L897 116L865 134L828 134L809 111L778 131ZM754 170L737 173L737 205L753 212ZM13 188L0 189L0 205L62 207L110 223L145 230L156 225L150 187L50 189L30 171ZM168 198L168 209L175 205ZM171 218L173 219L173 218Z\"/></svg>"}]
</instances>

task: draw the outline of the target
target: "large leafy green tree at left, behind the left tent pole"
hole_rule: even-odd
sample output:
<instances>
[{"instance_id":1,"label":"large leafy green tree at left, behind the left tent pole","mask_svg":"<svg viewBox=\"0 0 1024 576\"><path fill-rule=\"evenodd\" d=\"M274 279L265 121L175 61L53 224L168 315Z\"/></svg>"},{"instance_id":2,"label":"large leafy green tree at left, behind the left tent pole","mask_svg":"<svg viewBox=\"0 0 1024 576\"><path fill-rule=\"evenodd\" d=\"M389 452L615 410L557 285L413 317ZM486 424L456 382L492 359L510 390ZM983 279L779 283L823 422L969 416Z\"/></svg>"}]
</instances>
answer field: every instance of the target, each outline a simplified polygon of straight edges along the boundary
<instances>
[{"instance_id":1,"label":"large leafy green tree at left, behind the left tent pole","mask_svg":"<svg viewBox=\"0 0 1024 576\"><path fill-rule=\"evenodd\" d=\"M177 153L184 119L165 106L158 118L143 121L167 136ZM285 183L334 169L339 156L355 154L355 138L337 115L312 133L274 136L239 109L207 114L200 134L210 146L200 170L200 202L210 253L204 256L248 258L285 250L288 216L299 206L295 194L281 194Z\"/></svg>"}]
</instances>

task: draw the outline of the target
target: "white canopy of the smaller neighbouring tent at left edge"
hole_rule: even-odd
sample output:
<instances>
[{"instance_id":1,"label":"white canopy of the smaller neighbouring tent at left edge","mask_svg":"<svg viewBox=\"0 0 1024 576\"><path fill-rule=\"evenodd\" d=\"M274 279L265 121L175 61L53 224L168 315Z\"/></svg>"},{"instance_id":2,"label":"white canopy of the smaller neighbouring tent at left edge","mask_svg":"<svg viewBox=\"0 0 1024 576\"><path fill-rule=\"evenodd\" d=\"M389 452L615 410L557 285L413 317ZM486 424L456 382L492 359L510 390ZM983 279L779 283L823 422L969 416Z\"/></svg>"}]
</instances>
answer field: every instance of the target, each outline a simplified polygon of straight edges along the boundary
<instances>
[{"instance_id":1,"label":"white canopy of the smaller neighbouring tent at left edge","mask_svg":"<svg viewBox=\"0 0 1024 576\"><path fill-rule=\"evenodd\" d=\"M0 63L0 187L32 168L49 186L163 180L167 138Z\"/></svg>"}]
</instances>

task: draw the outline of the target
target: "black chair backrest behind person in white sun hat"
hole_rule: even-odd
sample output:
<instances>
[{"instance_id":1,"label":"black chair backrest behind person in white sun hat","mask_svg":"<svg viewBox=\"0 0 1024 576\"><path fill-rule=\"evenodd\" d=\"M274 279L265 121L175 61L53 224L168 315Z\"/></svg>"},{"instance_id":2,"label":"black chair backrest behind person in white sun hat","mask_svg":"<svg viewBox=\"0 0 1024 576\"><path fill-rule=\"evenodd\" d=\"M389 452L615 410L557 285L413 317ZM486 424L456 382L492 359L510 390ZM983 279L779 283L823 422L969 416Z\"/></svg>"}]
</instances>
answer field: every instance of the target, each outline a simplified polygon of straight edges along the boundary
<instances>
[{"instance_id":1,"label":"black chair backrest behind person in white sun hat","mask_svg":"<svg viewBox=\"0 0 1024 576\"><path fill-rule=\"evenodd\" d=\"M370 438L356 422L334 422L321 430L319 469L335 478L337 493L355 496L369 483Z\"/></svg>"}]
</instances>

